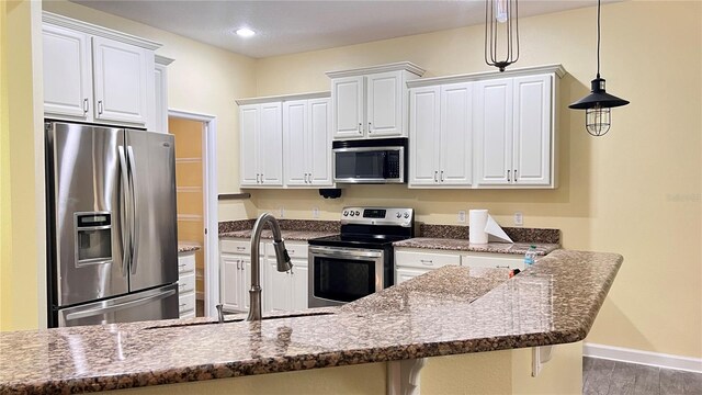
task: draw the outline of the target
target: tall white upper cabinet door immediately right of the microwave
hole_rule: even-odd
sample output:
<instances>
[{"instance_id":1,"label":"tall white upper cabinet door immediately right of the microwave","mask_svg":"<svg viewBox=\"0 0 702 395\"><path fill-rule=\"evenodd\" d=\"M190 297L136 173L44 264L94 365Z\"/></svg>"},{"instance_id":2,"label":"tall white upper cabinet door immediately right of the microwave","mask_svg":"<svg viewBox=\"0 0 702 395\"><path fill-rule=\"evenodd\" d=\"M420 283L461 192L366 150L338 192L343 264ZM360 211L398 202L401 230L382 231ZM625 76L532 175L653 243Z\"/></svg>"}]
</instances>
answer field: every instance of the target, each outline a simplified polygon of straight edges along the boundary
<instances>
[{"instance_id":1,"label":"tall white upper cabinet door immediately right of the microwave","mask_svg":"<svg viewBox=\"0 0 702 395\"><path fill-rule=\"evenodd\" d=\"M409 185L439 182L440 88L415 88L409 93Z\"/></svg>"}]
</instances>

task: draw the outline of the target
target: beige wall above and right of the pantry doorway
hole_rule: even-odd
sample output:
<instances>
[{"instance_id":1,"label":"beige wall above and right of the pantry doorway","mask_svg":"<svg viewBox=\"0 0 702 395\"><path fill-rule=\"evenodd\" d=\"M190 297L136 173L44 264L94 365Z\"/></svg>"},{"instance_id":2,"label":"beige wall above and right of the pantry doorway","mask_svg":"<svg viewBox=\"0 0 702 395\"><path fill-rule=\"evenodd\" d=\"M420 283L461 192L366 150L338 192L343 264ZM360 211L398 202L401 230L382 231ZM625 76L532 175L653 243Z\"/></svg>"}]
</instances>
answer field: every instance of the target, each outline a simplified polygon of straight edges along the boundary
<instances>
[{"instance_id":1,"label":"beige wall above and right of the pantry doorway","mask_svg":"<svg viewBox=\"0 0 702 395\"><path fill-rule=\"evenodd\" d=\"M168 66L168 108L217 117L217 187L219 193L239 191L237 98L256 93L256 60L183 36L109 13L56 0L44 1L46 11L134 34L163 44L156 53L176 59ZM219 203L219 221L240 219L254 213L250 202Z\"/></svg>"}]
</instances>

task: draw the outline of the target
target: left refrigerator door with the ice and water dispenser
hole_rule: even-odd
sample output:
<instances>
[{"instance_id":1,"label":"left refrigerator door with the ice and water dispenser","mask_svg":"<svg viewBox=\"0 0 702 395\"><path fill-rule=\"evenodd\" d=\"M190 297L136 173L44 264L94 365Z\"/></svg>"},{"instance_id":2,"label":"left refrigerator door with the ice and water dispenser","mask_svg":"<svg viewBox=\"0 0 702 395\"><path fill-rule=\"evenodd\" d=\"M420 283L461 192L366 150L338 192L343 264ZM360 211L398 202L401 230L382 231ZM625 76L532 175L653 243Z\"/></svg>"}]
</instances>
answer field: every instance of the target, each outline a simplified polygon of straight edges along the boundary
<instances>
[{"instance_id":1,"label":"left refrigerator door with the ice and water dispenser","mask_svg":"<svg viewBox=\"0 0 702 395\"><path fill-rule=\"evenodd\" d=\"M127 293L117 149L124 129L48 123L46 138L52 304Z\"/></svg>"}]
</instances>

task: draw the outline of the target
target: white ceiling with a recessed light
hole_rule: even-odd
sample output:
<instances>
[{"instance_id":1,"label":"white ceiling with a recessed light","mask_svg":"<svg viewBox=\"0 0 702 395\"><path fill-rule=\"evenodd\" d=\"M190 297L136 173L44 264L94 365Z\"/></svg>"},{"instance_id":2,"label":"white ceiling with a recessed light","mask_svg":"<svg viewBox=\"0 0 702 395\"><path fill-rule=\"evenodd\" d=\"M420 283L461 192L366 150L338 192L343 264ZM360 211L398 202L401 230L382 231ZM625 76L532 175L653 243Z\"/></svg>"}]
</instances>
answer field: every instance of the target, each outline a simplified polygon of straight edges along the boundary
<instances>
[{"instance_id":1,"label":"white ceiling with a recessed light","mask_svg":"<svg viewBox=\"0 0 702 395\"><path fill-rule=\"evenodd\" d=\"M72 1L254 58L428 33L485 21L484 0ZM519 15L596 4L596 0L520 0ZM595 23L595 14L592 16ZM244 26L256 31L257 35L242 38L234 34L235 30Z\"/></svg>"}]
</instances>

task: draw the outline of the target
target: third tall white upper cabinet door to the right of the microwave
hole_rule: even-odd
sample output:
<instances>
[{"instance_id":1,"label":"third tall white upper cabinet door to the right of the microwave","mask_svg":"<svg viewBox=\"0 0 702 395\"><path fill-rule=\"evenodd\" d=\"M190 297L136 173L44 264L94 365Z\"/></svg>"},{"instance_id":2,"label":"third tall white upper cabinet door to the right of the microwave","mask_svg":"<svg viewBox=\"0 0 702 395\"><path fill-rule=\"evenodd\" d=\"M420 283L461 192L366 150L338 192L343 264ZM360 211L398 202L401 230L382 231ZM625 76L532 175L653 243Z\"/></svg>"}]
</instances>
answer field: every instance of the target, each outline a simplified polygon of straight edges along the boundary
<instances>
[{"instance_id":1,"label":"third tall white upper cabinet door to the right of the microwave","mask_svg":"<svg viewBox=\"0 0 702 395\"><path fill-rule=\"evenodd\" d=\"M512 80L474 84L476 166L480 185L512 182Z\"/></svg>"}]
</instances>

